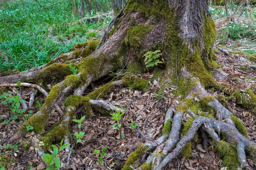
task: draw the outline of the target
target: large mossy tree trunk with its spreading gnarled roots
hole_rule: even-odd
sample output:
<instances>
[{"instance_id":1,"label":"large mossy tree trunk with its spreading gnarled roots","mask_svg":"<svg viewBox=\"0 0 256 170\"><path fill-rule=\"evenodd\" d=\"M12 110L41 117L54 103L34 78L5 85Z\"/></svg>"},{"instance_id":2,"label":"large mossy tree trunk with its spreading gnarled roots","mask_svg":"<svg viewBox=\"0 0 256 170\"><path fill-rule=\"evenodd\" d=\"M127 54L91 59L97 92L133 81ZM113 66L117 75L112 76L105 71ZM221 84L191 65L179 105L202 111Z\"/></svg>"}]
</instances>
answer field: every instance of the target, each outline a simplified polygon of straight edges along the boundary
<instances>
[{"instance_id":1,"label":"large mossy tree trunk with its spreading gnarled roots","mask_svg":"<svg viewBox=\"0 0 256 170\"><path fill-rule=\"evenodd\" d=\"M118 20L120 22L117 24ZM113 26L115 30L108 37L108 32ZM55 59L51 62L53 64L35 71L0 77L0 82L4 83L21 80L35 84L39 79L43 82L49 81L52 75L55 77L57 75L59 79L66 77L52 87L41 110L24 122L20 133L11 140L23 135L28 125L33 126L36 133L44 131L49 113L55 104L64 106L64 118L59 126L48 133L48 138L43 139L44 143L50 146L63 136L67 136L70 121L80 105L84 105L87 116L90 116L92 105L113 108L97 99L106 95L110 87L124 86L134 81L129 81L133 77L128 74L117 82L102 86L103 94L102 89L98 88L91 94L83 96L83 92L91 82L119 68L131 68L131 65L143 66L140 67L140 71L152 71L152 69L146 70L143 55L148 51L159 50L160 60L163 62L161 65L165 68L161 85L165 87L169 87L172 83L179 85L180 92L176 95L183 95L184 99L175 108L172 125L172 109L168 114L166 113L163 136L155 142L141 144L134 153L131 153L122 169L132 170L130 166L134 166L134 162L140 160L145 153L152 152L151 149L156 151L152 152L140 167L134 168L160 170L180 153L182 156L187 154L190 156L190 141L198 130L212 138L217 150L230 146L228 142L234 142L238 150L236 155L239 154L235 161L239 162L241 167L246 167L248 164L245 153L255 155L256 143L246 138L244 127L242 129L245 132L241 131L241 128L236 129L238 124L234 120L237 118L234 118L230 111L205 90L210 86L221 88L209 72L215 65L213 61L215 57L211 52L215 38L215 24L208 11L208 0L129 0L125 8L122 8L111 20L101 40L80 43L73 48L76 49L75 51L62 54L61 57L66 60L84 57L83 61L74 65L78 68L77 75L70 72L69 65L54 63L58 61ZM98 43L100 47L94 51ZM65 102L63 104L56 101ZM198 110L203 112L206 108L212 111L213 115L207 117L204 114L196 115ZM180 139L180 127L185 112L191 115L193 121ZM227 136L226 141L219 138L220 134ZM204 145L207 145L208 140L204 139ZM162 148L162 151L157 153L159 148ZM224 155L224 160L230 159L228 156L230 156L228 153ZM232 165L232 162L226 161L226 163L225 165Z\"/></svg>"}]
</instances>

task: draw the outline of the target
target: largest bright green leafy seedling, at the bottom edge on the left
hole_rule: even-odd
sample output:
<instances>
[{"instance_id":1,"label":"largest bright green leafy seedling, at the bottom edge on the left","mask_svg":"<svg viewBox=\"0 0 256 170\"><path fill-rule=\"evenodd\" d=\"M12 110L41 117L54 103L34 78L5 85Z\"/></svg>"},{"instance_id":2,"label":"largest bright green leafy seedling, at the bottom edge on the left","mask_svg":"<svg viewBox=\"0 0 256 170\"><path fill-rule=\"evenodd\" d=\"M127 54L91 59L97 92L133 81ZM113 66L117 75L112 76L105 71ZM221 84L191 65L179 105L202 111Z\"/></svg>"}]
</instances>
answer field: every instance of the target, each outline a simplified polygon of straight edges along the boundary
<instances>
[{"instance_id":1,"label":"largest bright green leafy seedling, at the bottom edge on the left","mask_svg":"<svg viewBox=\"0 0 256 170\"><path fill-rule=\"evenodd\" d=\"M58 157L58 153L61 150L64 150L66 147L68 147L70 144L63 144L63 139L61 140L61 146L58 149L58 147L55 144L52 144L53 153L49 154L46 153L42 156L42 159L49 164L50 167L47 167L46 170L58 170L61 167L61 160ZM55 166L53 166L53 164Z\"/></svg>"}]
</instances>

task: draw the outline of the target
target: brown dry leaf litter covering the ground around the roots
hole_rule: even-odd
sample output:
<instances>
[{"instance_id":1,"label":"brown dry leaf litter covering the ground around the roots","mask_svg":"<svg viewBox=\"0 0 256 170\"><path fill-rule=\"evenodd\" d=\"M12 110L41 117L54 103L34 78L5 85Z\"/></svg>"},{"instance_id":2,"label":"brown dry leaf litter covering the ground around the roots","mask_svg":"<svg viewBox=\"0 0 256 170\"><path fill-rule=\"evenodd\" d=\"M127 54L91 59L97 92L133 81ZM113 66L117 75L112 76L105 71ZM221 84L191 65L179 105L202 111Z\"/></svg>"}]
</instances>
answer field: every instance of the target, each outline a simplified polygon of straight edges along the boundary
<instances>
[{"instance_id":1,"label":"brown dry leaf litter covering the ground around the roots","mask_svg":"<svg viewBox=\"0 0 256 170\"><path fill-rule=\"evenodd\" d=\"M251 54L230 51L229 55L225 55L221 51L218 51L218 48L215 48L215 53L218 57L216 62L222 67L222 70L228 74L222 79L219 79L219 76L214 76L218 83L230 89L236 88L240 90L256 83L256 71L247 68L248 65L256 63L248 59L248 56L250 58ZM125 72L125 70L123 70L123 72ZM143 75L134 73L134 76L147 79L150 85L149 91L137 91L129 87L112 88L109 95L105 96L103 99L112 105L127 108L122 118L122 133L125 137L121 141L119 140L118 131L112 128L115 121L111 119L111 116L102 115L95 111L95 117L86 118L82 123L81 130L84 131L85 134L81 143L76 144L74 147L75 152L72 153L70 159L71 169L99 169L99 154L94 154L93 152L94 150L101 150L102 147L106 147L105 153L107 153L107 155L103 159L104 164L102 165L102 170L119 170L125 163L125 160L127 160L128 155L137 148L138 144L152 141L161 136L166 110L170 107L175 107L175 105L180 102L180 98L173 95L176 87L172 86L168 89L160 89L158 82L161 74L156 78L153 74L149 73ZM102 79L102 84L111 79L111 77L105 80ZM94 87L89 87L85 93L89 93L92 88L97 88L102 84L99 83L94 85ZM31 90L32 89L29 88L22 89L21 96L23 99L26 100L29 98L32 92ZM208 91L216 96L216 98L222 94L222 92L212 89L208 89ZM41 96L37 97L36 101L40 100L40 98ZM247 129L249 139L256 142L256 122L253 121L256 119L255 115L244 110L238 103L233 101L228 102L227 108L242 120ZM32 111L35 113L37 110L38 107L35 107ZM44 134L36 135L34 132L28 133L23 139L20 139L19 142L10 144L8 143L8 139L12 134L17 132L26 114L12 116L10 106L8 105L1 106L0 113L5 113L1 115L2 119L10 120L9 124L3 125L2 123L0 125L0 135L3 139L1 143L1 153L5 153L5 156L2 156L0 160L1 166L7 165L10 170L25 170L29 167L34 167L34 170L35 167L37 167L37 170L43 169L44 164L42 164L41 158L35 151L35 143L41 136L44 136ZM76 116L83 116L83 112L81 112L81 115ZM183 116L184 122L186 122L188 118L189 114L185 113ZM59 119L58 112L55 110L52 111L46 127L51 127L58 122ZM17 122L16 120L21 121ZM133 129L130 123L138 123L139 126ZM77 130L78 127L73 123L71 134L75 133ZM192 142L192 153L189 160L178 157L171 161L166 169L176 170L177 167L189 170L221 169L222 160L218 157L218 153L215 152L213 146L209 146L208 150L204 150L200 144L201 135L199 133L198 135L198 142ZM75 136L73 136L72 143L76 143ZM8 144L10 145L7 149L6 145L8 146ZM16 146L17 150L15 149ZM65 151L60 154L61 164L66 164L67 157L68 153ZM250 160L247 161L250 166L253 167L253 162ZM139 161L138 164L140 164Z\"/></svg>"}]
</instances>

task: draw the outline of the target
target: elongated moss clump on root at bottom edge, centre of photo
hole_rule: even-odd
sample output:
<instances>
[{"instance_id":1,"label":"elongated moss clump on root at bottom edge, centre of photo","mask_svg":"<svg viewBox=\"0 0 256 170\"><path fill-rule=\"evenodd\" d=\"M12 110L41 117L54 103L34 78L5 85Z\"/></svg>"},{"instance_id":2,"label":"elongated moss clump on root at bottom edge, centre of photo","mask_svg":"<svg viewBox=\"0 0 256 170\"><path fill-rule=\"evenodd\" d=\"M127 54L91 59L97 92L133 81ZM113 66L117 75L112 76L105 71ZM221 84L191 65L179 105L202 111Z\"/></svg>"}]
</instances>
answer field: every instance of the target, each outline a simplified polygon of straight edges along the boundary
<instances>
[{"instance_id":1,"label":"elongated moss clump on root at bottom edge, centre of photo","mask_svg":"<svg viewBox=\"0 0 256 170\"><path fill-rule=\"evenodd\" d=\"M122 170L132 170L130 166L133 165L135 161L139 160L143 156L147 148L148 147L144 147L144 144L139 144L137 149L130 154L129 158L125 162L125 165L122 167Z\"/></svg>"}]
</instances>

